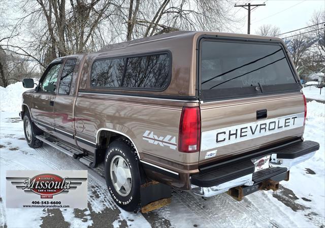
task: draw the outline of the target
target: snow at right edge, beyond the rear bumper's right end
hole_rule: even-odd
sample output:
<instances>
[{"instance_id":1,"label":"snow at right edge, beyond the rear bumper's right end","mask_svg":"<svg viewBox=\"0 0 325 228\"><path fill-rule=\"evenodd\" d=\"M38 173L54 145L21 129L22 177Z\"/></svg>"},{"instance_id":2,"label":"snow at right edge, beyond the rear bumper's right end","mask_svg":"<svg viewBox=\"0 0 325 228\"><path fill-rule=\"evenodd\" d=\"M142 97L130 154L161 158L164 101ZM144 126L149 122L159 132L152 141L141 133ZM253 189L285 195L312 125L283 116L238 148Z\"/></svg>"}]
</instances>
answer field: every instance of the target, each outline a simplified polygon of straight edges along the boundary
<instances>
[{"instance_id":1,"label":"snow at right edge, beyond the rear bumper's right end","mask_svg":"<svg viewBox=\"0 0 325 228\"><path fill-rule=\"evenodd\" d=\"M305 140L319 143L320 148L309 160L290 170L290 181L283 183L285 187L296 189L296 194L307 196L311 202L300 202L306 207L313 207L319 214L325 212L325 104L315 101L307 103L307 121L304 133ZM316 174L306 174L305 169L312 169ZM310 186L310 187L307 187ZM301 200L302 201L302 200Z\"/></svg>"}]
</instances>

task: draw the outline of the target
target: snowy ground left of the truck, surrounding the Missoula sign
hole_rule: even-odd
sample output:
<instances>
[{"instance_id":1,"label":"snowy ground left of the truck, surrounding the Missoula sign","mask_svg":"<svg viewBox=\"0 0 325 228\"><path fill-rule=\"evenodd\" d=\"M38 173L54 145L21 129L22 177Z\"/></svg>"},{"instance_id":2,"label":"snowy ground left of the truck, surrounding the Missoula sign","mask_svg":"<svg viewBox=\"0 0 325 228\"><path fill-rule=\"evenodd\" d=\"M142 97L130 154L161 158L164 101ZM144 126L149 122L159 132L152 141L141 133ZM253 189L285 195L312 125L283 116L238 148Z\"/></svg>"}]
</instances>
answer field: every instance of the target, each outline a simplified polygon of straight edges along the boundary
<instances>
[{"instance_id":1,"label":"snowy ground left of the truck, surrounding the Missoula sign","mask_svg":"<svg viewBox=\"0 0 325 228\"><path fill-rule=\"evenodd\" d=\"M95 216L109 210L116 211L114 220L124 220L128 225L135 227L150 227L140 213L121 212L107 191L105 179L79 161L48 145L38 149L28 147L24 140L22 121L19 121L17 112L2 112L0 123L0 227L6 227L4 224L8 227L26 227L26 224L28 227L39 227L44 223L42 217L48 215L42 208L6 208L6 170L88 170L88 202L91 210L86 209L80 218L74 209L60 209L64 221L69 222L71 227L87 227L93 224L90 213ZM49 216L53 216L53 212L49 212ZM109 216L109 213L105 216ZM101 219L105 221L109 217Z\"/></svg>"}]
</instances>

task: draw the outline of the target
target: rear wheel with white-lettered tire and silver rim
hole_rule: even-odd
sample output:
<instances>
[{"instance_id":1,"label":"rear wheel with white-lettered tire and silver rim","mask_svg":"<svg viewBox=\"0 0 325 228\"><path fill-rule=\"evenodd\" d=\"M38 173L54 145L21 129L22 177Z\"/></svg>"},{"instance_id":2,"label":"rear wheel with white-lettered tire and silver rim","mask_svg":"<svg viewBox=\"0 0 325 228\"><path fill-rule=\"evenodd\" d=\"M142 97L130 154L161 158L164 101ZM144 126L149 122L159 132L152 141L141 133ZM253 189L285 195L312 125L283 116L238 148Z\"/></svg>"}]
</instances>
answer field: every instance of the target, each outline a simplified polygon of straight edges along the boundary
<instances>
[{"instance_id":1,"label":"rear wheel with white-lettered tire and silver rim","mask_svg":"<svg viewBox=\"0 0 325 228\"><path fill-rule=\"evenodd\" d=\"M141 176L132 144L123 139L112 142L106 151L104 165L106 184L115 203L125 211L137 212Z\"/></svg>"}]
</instances>

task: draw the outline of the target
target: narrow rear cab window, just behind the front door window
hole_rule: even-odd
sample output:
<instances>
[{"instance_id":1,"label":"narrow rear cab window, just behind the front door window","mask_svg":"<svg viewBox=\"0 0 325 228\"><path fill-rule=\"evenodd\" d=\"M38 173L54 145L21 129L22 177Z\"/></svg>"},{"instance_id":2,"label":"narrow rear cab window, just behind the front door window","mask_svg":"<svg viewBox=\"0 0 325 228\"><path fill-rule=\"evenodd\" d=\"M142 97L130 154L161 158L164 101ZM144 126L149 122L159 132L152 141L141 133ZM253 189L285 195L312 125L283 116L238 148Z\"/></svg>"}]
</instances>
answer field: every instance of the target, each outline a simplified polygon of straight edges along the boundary
<instances>
[{"instance_id":1,"label":"narrow rear cab window, just behind the front door window","mask_svg":"<svg viewBox=\"0 0 325 228\"><path fill-rule=\"evenodd\" d=\"M76 61L77 59L67 59L66 63L64 64L59 83L59 94L70 93L71 79L75 69Z\"/></svg>"}]
</instances>

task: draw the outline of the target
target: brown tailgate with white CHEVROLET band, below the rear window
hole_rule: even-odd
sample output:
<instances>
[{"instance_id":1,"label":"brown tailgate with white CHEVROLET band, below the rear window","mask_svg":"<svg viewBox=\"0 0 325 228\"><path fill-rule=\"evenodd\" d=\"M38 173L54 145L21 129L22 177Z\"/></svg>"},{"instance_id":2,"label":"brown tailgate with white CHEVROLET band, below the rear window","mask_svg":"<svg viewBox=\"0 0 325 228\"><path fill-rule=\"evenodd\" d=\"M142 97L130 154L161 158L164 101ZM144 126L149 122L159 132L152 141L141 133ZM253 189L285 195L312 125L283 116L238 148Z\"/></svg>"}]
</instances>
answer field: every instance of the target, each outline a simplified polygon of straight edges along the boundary
<instances>
[{"instance_id":1,"label":"brown tailgate with white CHEVROLET band, below the rear window","mask_svg":"<svg viewBox=\"0 0 325 228\"><path fill-rule=\"evenodd\" d=\"M201 104L200 165L300 137L301 93ZM258 111L267 117L258 117Z\"/></svg>"}]
</instances>

